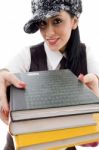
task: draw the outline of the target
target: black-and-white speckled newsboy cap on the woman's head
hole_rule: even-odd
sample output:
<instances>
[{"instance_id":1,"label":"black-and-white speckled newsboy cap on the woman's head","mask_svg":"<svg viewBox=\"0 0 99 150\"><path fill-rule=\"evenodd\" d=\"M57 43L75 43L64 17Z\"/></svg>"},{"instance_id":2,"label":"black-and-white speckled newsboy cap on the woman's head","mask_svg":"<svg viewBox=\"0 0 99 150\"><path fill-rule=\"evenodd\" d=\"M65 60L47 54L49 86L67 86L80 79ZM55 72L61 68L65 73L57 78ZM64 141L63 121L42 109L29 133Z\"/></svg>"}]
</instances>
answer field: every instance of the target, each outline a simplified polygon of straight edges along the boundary
<instances>
[{"instance_id":1,"label":"black-and-white speckled newsboy cap on the woman's head","mask_svg":"<svg viewBox=\"0 0 99 150\"><path fill-rule=\"evenodd\" d=\"M61 10L68 11L78 18L82 12L82 2L81 0L32 0L31 8L33 17L24 26L26 33L35 33L39 29L39 21L55 16Z\"/></svg>"}]
</instances>

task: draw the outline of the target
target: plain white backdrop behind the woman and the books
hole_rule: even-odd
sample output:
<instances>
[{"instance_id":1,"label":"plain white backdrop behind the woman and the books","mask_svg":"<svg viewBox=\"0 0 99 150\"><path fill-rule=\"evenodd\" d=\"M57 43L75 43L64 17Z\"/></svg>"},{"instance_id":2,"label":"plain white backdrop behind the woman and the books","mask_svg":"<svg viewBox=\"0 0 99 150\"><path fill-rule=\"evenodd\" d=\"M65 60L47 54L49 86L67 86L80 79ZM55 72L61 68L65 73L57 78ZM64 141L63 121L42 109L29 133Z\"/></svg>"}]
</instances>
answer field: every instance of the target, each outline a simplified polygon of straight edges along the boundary
<instances>
[{"instance_id":1,"label":"plain white backdrop behind the woman and the books","mask_svg":"<svg viewBox=\"0 0 99 150\"><path fill-rule=\"evenodd\" d=\"M82 0L83 13L80 17L81 40L92 48L92 53L99 58L99 0ZM4 67L22 48L42 41L37 32L28 35L23 25L31 18L30 0L0 1L0 68ZM0 150L6 139L7 126L0 121ZM99 150L96 148L77 147L78 150Z\"/></svg>"}]
</instances>

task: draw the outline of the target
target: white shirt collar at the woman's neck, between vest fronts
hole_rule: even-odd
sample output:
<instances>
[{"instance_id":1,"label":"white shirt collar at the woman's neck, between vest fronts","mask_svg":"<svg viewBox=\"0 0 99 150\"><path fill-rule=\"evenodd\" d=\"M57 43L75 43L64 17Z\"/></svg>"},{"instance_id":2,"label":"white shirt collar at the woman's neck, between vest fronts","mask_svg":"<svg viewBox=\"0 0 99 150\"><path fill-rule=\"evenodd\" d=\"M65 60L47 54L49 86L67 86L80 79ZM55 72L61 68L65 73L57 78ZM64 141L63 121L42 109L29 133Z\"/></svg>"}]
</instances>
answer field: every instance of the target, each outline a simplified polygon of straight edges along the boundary
<instances>
[{"instance_id":1,"label":"white shirt collar at the woman's neck, between vest fronts","mask_svg":"<svg viewBox=\"0 0 99 150\"><path fill-rule=\"evenodd\" d=\"M51 50L45 42L44 48L48 62L50 63L52 69L56 69L63 57L63 54L60 51Z\"/></svg>"}]
</instances>

